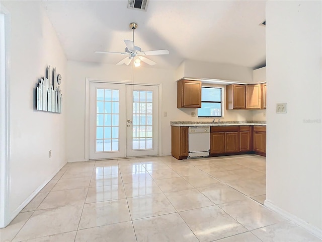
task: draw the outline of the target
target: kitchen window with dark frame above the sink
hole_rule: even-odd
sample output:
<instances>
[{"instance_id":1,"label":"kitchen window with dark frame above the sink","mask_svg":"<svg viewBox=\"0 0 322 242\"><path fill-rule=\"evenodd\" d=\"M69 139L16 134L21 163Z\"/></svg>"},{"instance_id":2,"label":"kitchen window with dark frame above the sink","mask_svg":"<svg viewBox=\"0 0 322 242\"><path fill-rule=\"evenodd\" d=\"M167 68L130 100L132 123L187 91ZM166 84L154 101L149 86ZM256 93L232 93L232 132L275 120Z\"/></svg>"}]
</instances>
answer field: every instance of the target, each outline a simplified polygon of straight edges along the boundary
<instances>
[{"instance_id":1,"label":"kitchen window with dark frame above the sink","mask_svg":"<svg viewBox=\"0 0 322 242\"><path fill-rule=\"evenodd\" d=\"M198 108L198 117L221 117L221 92L219 87L201 88L201 108Z\"/></svg>"}]
</instances>

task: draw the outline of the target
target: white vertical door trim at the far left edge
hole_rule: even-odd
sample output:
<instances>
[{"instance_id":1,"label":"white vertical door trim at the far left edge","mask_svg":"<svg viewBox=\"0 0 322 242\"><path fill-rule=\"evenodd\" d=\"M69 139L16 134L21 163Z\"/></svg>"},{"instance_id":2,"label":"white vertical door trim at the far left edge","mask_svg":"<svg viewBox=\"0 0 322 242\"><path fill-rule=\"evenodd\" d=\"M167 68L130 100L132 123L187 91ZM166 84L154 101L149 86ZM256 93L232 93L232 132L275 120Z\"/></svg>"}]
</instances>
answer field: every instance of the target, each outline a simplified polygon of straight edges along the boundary
<instances>
[{"instance_id":1,"label":"white vertical door trim at the far left edge","mask_svg":"<svg viewBox=\"0 0 322 242\"><path fill-rule=\"evenodd\" d=\"M10 14L4 8L1 9L0 27L0 228L6 227L10 222L10 99L9 99L9 36Z\"/></svg>"}]
</instances>

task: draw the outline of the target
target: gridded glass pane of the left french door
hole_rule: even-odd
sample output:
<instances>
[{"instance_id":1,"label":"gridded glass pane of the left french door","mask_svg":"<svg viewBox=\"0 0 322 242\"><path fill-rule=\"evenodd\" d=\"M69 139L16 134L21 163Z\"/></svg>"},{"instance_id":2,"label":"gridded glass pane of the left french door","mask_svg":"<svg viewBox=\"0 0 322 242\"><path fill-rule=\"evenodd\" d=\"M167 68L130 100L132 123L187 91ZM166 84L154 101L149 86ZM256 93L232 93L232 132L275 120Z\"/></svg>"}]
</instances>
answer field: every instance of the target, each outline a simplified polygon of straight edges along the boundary
<instances>
[{"instance_id":1,"label":"gridded glass pane of the left french door","mask_svg":"<svg viewBox=\"0 0 322 242\"><path fill-rule=\"evenodd\" d=\"M119 90L97 89L96 152L119 150Z\"/></svg>"}]
</instances>

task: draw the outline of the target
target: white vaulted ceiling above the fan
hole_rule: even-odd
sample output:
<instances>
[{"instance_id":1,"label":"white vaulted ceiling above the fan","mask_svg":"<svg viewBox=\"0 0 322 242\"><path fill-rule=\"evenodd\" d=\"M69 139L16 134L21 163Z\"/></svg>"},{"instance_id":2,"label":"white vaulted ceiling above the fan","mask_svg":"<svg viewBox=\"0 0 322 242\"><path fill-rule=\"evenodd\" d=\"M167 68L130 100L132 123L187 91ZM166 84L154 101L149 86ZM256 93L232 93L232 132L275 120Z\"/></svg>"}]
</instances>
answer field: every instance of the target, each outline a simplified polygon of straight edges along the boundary
<instances>
[{"instance_id":1,"label":"white vaulted ceiling above the fan","mask_svg":"<svg viewBox=\"0 0 322 242\"><path fill-rule=\"evenodd\" d=\"M155 1L147 10L127 8L127 1L43 2L68 60L116 64L123 39L142 50L168 49L148 56L155 68L177 68L184 59L245 67L265 64L265 1ZM144 64L147 66L146 64Z\"/></svg>"}]
</instances>

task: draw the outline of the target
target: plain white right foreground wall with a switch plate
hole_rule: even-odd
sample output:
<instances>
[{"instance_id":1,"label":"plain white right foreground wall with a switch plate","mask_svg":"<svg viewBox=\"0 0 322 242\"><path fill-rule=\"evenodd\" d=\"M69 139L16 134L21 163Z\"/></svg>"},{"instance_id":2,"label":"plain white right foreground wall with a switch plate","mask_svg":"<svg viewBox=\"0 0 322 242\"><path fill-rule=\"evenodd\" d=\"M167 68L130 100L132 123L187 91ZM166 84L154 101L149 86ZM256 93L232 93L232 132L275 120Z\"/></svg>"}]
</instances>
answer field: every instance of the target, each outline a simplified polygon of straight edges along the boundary
<instances>
[{"instance_id":1,"label":"plain white right foreground wall with a switch plate","mask_svg":"<svg viewBox=\"0 0 322 242\"><path fill-rule=\"evenodd\" d=\"M320 1L267 1L267 201L322 229ZM287 113L277 114L276 103ZM316 230L314 230L316 228Z\"/></svg>"}]
</instances>

